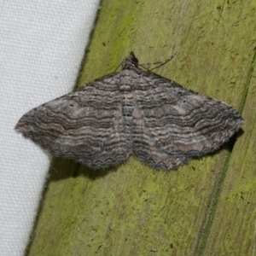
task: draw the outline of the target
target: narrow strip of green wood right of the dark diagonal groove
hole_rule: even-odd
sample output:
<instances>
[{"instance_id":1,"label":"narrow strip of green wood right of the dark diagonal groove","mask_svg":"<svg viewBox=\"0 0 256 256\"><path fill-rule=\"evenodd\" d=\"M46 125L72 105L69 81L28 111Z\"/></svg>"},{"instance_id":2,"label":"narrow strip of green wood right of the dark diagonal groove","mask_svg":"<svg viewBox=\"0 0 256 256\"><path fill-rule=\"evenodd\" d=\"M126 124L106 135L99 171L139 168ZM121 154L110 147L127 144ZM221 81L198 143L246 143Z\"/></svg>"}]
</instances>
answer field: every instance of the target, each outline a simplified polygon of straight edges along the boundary
<instances>
[{"instance_id":1,"label":"narrow strip of green wood right of the dark diagonal groove","mask_svg":"<svg viewBox=\"0 0 256 256\"><path fill-rule=\"evenodd\" d=\"M230 163L226 166L227 172L211 231L209 236L204 234L201 240L201 255L256 253L255 49L252 53L253 49L247 52L251 66L247 67L247 79L241 81L245 86L245 102L241 102L241 109L246 123L233 148Z\"/></svg>"}]
</instances>

